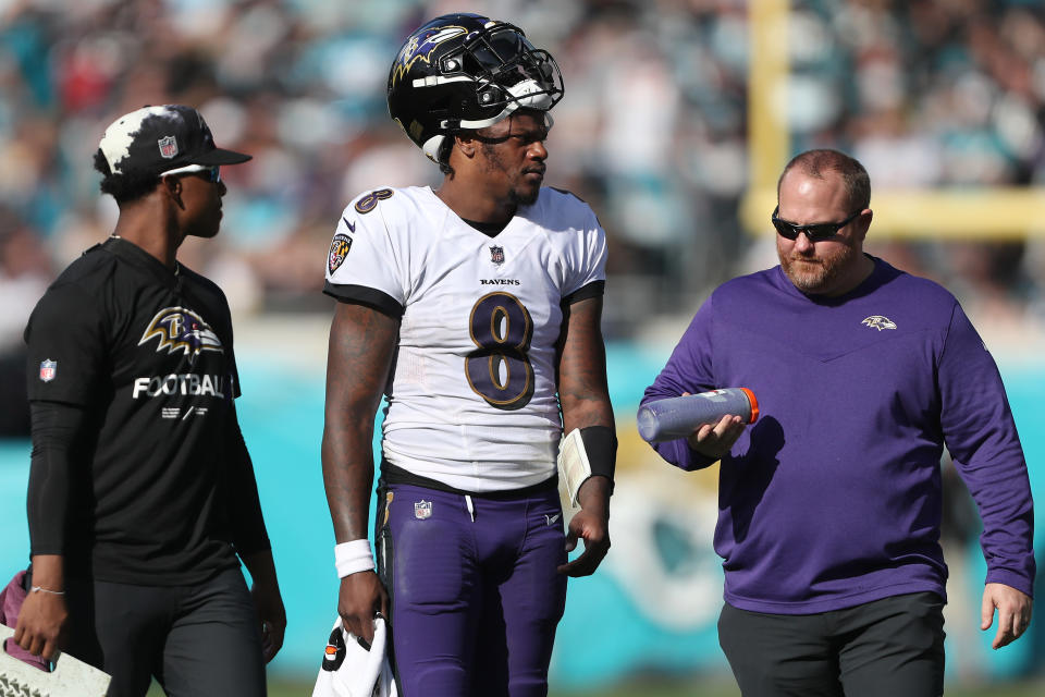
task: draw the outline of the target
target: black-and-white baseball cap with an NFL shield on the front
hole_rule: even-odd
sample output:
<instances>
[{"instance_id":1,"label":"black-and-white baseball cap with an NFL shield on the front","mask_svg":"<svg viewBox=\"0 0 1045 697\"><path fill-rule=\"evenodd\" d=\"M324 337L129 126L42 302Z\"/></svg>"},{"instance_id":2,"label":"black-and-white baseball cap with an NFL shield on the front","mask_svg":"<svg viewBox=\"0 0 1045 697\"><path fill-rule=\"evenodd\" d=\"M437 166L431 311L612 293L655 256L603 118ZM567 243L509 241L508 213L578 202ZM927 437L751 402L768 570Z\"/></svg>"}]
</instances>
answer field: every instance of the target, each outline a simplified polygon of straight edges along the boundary
<instances>
[{"instance_id":1,"label":"black-and-white baseball cap with an NFL shield on the front","mask_svg":"<svg viewBox=\"0 0 1045 697\"><path fill-rule=\"evenodd\" d=\"M143 107L112 122L98 144L113 174L163 172L201 164L239 164L249 155L214 146L204 117L182 105Z\"/></svg>"}]
</instances>

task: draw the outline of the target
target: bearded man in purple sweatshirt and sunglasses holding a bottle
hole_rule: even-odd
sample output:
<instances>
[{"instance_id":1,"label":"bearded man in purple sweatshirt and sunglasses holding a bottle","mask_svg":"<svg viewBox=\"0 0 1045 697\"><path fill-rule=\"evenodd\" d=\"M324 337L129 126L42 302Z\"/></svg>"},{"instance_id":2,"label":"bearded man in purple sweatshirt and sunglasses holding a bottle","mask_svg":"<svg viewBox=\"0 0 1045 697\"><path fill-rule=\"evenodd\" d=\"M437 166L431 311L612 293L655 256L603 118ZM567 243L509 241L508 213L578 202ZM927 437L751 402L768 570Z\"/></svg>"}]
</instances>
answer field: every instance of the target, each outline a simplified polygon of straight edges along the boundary
<instances>
[{"instance_id":1,"label":"bearded man in purple sweatshirt and sunglasses holding a bottle","mask_svg":"<svg viewBox=\"0 0 1045 697\"><path fill-rule=\"evenodd\" d=\"M944 445L983 518L982 628L1031 619L1033 504L997 366L946 290L863 254L871 184L836 150L777 184L780 265L703 304L643 403L746 387L760 417L655 443L721 460L720 643L745 697L943 694Z\"/></svg>"}]
</instances>

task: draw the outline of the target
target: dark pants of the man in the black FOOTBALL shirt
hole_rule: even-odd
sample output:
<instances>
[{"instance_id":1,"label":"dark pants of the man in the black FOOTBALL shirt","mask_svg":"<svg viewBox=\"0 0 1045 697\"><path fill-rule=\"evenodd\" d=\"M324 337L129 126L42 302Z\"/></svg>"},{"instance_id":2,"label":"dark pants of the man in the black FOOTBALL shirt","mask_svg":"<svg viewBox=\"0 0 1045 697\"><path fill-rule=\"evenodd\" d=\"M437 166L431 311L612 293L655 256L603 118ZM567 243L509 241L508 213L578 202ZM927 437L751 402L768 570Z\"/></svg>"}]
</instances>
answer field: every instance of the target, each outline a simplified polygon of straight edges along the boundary
<instances>
[{"instance_id":1,"label":"dark pants of the man in the black FOOTBALL shirt","mask_svg":"<svg viewBox=\"0 0 1045 697\"><path fill-rule=\"evenodd\" d=\"M238 568L195 586L70 579L65 651L110 675L109 697L262 697L261 633Z\"/></svg>"}]
</instances>

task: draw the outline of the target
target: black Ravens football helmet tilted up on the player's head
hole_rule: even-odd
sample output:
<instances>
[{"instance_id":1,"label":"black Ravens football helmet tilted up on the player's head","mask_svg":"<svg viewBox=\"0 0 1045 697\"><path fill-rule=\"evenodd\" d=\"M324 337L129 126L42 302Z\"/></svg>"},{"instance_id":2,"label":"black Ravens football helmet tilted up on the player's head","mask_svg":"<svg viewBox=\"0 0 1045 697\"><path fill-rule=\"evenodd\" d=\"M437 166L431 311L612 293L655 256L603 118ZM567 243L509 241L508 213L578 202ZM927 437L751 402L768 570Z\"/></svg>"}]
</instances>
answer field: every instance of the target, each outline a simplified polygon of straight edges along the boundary
<instances>
[{"instance_id":1,"label":"black Ravens football helmet tilted up on the player's head","mask_svg":"<svg viewBox=\"0 0 1045 697\"><path fill-rule=\"evenodd\" d=\"M445 14L419 27L389 73L389 112L435 162L444 136L517 109L548 111L562 98L551 53L514 24L479 14Z\"/></svg>"}]
</instances>

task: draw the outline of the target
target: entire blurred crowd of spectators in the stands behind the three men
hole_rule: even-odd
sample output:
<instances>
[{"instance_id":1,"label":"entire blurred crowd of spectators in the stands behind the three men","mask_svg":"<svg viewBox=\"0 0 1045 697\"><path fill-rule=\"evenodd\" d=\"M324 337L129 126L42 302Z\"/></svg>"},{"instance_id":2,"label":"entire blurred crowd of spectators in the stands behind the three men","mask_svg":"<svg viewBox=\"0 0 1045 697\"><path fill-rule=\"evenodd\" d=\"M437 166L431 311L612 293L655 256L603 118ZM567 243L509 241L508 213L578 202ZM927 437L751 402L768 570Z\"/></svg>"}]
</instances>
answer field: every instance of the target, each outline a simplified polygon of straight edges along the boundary
<instances>
[{"instance_id":1,"label":"entire blurred crowd of spectators in the stands behind the three men","mask_svg":"<svg viewBox=\"0 0 1045 697\"><path fill-rule=\"evenodd\" d=\"M876 189L1043 183L1038 0L791 4L791 151L848 150ZM773 262L772 237L747 234L737 215L758 5L0 0L0 355L17 350L54 274L109 233L115 205L91 156L115 117L149 103L197 107L219 145L255 156L223 172L222 234L186 243L183 261L218 281L234 313L329 311L323 260L345 203L439 181L389 119L384 87L403 38L460 10L522 26L562 66L549 183L588 200L608 232L607 335L686 316L716 283ZM1040 242L877 248L962 299L1045 315Z\"/></svg>"}]
</instances>

